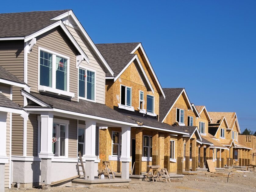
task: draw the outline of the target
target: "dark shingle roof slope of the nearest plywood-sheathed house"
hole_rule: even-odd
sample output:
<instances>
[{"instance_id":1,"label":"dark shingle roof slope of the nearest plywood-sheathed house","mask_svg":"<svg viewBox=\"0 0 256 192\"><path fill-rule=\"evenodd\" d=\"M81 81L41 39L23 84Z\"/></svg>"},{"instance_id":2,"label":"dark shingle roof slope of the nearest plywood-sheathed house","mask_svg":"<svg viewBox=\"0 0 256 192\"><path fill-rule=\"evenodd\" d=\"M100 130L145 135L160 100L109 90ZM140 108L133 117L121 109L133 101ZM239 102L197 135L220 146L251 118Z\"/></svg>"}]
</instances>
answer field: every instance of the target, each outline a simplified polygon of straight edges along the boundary
<instances>
[{"instance_id":1,"label":"dark shingle roof slope of the nearest plywood-sheathed house","mask_svg":"<svg viewBox=\"0 0 256 192\"><path fill-rule=\"evenodd\" d=\"M138 44L139 43L106 43L95 45L116 77L132 60L134 55L136 55L131 54L131 52Z\"/></svg>"}]
</instances>

